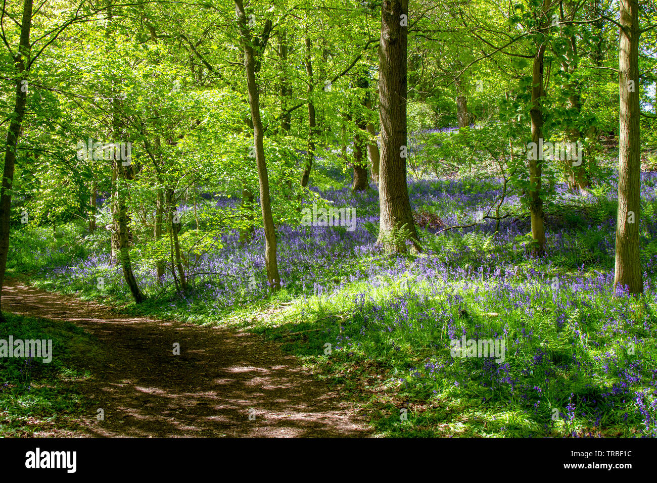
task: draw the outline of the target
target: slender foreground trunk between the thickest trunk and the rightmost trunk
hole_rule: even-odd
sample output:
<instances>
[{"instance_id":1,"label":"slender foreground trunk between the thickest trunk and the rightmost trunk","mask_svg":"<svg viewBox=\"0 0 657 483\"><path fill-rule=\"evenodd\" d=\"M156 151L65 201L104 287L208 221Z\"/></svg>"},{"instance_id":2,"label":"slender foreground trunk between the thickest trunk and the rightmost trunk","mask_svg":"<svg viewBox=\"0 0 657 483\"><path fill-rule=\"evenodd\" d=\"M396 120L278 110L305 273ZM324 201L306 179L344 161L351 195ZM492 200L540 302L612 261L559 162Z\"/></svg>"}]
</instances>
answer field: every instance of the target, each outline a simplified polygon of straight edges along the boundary
<instances>
[{"instance_id":1,"label":"slender foreground trunk between the thickest trunk and the rightmost trunk","mask_svg":"<svg viewBox=\"0 0 657 483\"><path fill-rule=\"evenodd\" d=\"M536 146L542 146L543 139L543 106L541 102L545 97L543 90L543 55L545 54L545 44L541 43L536 49L532 66L532 109L530 117L532 118L532 143ZM542 153L537 152L537 156L528 156L530 172L530 217L532 219L532 240L534 242L535 254L545 252L545 227L543 226L543 200L541 199L541 178L543 174ZM535 158L535 159L533 159Z\"/></svg>"}]
</instances>

